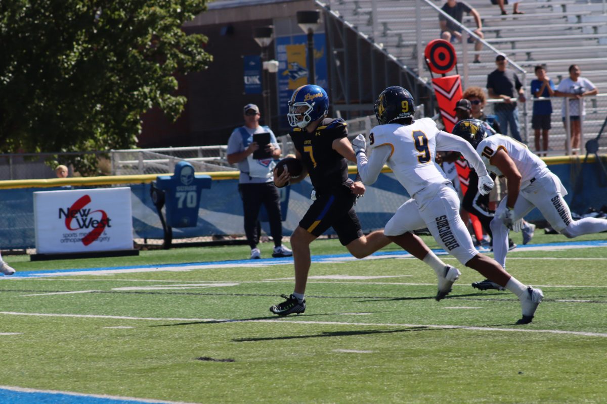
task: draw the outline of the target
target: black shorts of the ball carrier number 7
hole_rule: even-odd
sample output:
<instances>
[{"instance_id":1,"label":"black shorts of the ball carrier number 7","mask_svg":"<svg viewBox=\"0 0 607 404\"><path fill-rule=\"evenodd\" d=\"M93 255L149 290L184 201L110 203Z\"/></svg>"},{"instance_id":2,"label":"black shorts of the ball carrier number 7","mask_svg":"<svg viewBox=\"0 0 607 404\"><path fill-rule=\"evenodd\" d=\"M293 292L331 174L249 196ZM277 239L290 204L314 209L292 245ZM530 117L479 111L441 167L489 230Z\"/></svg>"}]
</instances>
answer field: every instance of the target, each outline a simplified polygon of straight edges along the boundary
<instances>
[{"instance_id":1,"label":"black shorts of the ball carrier number 7","mask_svg":"<svg viewBox=\"0 0 607 404\"><path fill-rule=\"evenodd\" d=\"M299 222L299 226L318 237L333 227L339 242L348 245L362 237L361 222L354 211L356 195L341 187L331 193L316 195L316 200Z\"/></svg>"}]
</instances>

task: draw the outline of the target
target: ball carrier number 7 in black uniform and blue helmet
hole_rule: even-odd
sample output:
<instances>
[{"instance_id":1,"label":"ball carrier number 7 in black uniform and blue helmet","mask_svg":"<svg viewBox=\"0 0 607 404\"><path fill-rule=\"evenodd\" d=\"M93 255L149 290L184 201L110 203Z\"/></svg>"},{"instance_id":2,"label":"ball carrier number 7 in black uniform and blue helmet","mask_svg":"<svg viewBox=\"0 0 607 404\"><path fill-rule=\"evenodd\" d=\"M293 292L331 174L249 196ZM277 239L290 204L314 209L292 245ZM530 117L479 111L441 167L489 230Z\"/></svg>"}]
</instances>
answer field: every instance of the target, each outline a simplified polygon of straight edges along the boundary
<instances>
[{"instance_id":1,"label":"ball carrier number 7 in black uniform and blue helmet","mask_svg":"<svg viewBox=\"0 0 607 404\"><path fill-rule=\"evenodd\" d=\"M270 311L279 316L304 313L304 293L311 261L310 243L330 227L333 227L342 245L357 258L375 253L392 241L405 248L435 270L438 277L436 300L443 299L458 279L459 271L436 257L418 236L405 233L388 239L381 230L367 236L362 233L354 202L364 194L365 186L358 177L355 181L348 178L347 160L356 162L356 156L347 138L345 121L326 118L328 108L327 93L317 85L297 88L289 101L287 117L293 127L291 139L296 158L302 162L304 170L300 176L292 179L287 165L283 166L280 174L275 169L274 184L279 188L285 187L291 182L300 182L310 174L316 199L313 198L313 204L291 236L295 267L293 294L283 294L285 301L271 306Z\"/></svg>"}]
</instances>

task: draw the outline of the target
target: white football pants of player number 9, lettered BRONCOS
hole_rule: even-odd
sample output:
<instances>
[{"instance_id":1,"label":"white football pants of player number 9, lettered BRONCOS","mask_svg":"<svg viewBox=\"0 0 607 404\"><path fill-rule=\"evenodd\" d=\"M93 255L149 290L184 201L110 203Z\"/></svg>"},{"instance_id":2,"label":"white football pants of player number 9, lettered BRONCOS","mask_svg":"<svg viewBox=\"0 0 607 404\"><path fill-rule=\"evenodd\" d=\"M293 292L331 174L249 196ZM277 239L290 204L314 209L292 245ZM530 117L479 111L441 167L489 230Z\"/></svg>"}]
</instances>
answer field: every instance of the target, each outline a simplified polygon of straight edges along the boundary
<instances>
[{"instance_id":1,"label":"white football pants of player number 9, lettered BRONCOS","mask_svg":"<svg viewBox=\"0 0 607 404\"><path fill-rule=\"evenodd\" d=\"M385 225L384 234L399 236L424 227L447 253L464 265L478 254L459 216L459 198L452 185L440 187L422 206L413 198L407 200Z\"/></svg>"}]
</instances>

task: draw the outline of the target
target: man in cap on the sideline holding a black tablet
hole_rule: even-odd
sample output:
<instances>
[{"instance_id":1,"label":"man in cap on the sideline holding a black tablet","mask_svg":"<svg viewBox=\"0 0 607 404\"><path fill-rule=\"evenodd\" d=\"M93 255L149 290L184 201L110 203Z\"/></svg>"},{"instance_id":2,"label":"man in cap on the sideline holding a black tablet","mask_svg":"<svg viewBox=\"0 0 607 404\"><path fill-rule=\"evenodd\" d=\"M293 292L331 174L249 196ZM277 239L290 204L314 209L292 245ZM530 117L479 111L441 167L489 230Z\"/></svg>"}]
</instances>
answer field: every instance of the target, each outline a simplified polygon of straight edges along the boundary
<instances>
[{"instance_id":1,"label":"man in cap on the sideline holding a black tablet","mask_svg":"<svg viewBox=\"0 0 607 404\"><path fill-rule=\"evenodd\" d=\"M261 258L259 243L259 210L265 206L270 219L270 233L274 239L273 257L290 257L293 252L282 245L282 217L280 194L274 186L274 159L280 157L276 136L269 127L259 125L259 107L247 104L244 108L245 125L232 131L228 140L228 163L238 164L240 170L239 193L245 216L246 240L251 247L251 259ZM265 151L271 154L266 159L254 159L253 152L259 144L253 141L254 133L270 133L270 143Z\"/></svg>"}]
</instances>

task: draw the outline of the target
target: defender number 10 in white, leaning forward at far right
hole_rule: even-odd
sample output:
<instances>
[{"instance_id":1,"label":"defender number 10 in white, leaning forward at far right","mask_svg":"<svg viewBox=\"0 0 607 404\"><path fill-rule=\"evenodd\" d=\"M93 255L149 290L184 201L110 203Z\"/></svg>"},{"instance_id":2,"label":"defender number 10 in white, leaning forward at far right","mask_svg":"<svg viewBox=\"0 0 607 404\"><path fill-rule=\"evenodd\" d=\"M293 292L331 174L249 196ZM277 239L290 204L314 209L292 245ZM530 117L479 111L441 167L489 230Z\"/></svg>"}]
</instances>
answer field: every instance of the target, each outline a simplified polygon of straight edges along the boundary
<instances>
[{"instance_id":1,"label":"defender number 10 in white, leaning forward at far right","mask_svg":"<svg viewBox=\"0 0 607 404\"><path fill-rule=\"evenodd\" d=\"M453 134L476 148L487 170L506 177L508 194L501 200L490 224L493 254L502 267L506 267L508 230L520 231L523 217L533 208L540 210L554 230L570 239L607 231L607 220L571 218L571 210L563 199L567 191L561 180L526 145L501 134L486 137L483 125L473 119L459 121Z\"/></svg>"}]
</instances>

